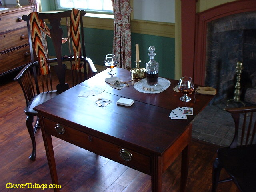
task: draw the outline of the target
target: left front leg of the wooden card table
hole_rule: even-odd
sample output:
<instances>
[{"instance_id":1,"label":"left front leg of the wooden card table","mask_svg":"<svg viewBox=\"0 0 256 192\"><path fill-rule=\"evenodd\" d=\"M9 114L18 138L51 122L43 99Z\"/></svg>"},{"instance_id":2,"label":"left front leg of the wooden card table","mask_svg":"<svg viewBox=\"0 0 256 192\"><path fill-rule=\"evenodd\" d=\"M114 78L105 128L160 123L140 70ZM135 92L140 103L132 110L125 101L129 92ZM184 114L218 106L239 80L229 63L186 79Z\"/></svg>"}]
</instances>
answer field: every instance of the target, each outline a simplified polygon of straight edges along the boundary
<instances>
[{"instance_id":1,"label":"left front leg of the wooden card table","mask_svg":"<svg viewBox=\"0 0 256 192\"><path fill-rule=\"evenodd\" d=\"M52 146L52 136L47 134L44 131L43 125L42 125L41 129L42 129L42 136L44 139L44 147L46 150L46 156L47 156L47 160L48 160L48 166L49 166L50 174L51 174L51 178L52 178L52 184L58 185L58 176L57 176L56 163L55 163L54 151L53 151L53 146ZM54 192L58 192L58 191L59 191L59 188L54 188Z\"/></svg>"}]
</instances>

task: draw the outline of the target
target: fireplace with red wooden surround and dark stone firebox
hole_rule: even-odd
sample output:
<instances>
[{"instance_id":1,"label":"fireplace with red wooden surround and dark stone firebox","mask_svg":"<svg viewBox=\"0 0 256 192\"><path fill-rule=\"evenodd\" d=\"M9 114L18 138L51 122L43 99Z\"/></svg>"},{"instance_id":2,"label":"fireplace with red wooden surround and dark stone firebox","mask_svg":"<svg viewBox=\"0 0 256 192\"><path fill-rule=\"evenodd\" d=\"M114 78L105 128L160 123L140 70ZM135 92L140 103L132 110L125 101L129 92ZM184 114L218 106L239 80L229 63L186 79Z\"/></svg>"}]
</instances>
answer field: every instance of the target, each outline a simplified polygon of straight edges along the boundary
<instances>
[{"instance_id":1,"label":"fireplace with red wooden surround and dark stone firebox","mask_svg":"<svg viewBox=\"0 0 256 192\"><path fill-rule=\"evenodd\" d=\"M214 101L232 97L236 62L244 64L243 81L256 70L256 0L237 0L200 13L197 0L182 2L182 75L217 88Z\"/></svg>"}]
</instances>

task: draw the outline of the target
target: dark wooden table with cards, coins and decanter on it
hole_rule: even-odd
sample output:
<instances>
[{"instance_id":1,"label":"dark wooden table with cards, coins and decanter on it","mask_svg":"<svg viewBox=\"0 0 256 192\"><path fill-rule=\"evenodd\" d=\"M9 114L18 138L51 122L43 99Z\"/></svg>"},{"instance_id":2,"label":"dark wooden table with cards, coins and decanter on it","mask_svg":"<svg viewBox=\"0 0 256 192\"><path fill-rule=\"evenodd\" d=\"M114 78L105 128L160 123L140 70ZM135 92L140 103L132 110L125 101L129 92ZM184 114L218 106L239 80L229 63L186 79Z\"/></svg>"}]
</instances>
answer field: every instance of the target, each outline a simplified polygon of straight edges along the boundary
<instances>
[{"instance_id":1,"label":"dark wooden table with cards, coins and decanter on it","mask_svg":"<svg viewBox=\"0 0 256 192\"><path fill-rule=\"evenodd\" d=\"M127 70L115 70L115 76L122 80L130 79ZM178 81L170 80L171 86L159 94L141 93L129 86L122 90L108 87L96 96L78 97L85 89L84 86L102 86L108 77L110 75L105 70L34 108L42 122L42 135L53 184L58 184L58 178L51 136L151 175L152 192L161 191L162 173L182 153L180 191L184 192L191 121L213 96L197 95L195 104L181 102L179 98L182 94L172 90ZM104 108L94 106L94 101L102 97L113 102ZM117 106L115 103L120 97L134 99L135 103L130 107ZM171 110L181 106L193 107L194 115L185 120L171 120ZM56 127L64 133L58 133ZM124 152L128 159L132 158L124 160L120 152Z\"/></svg>"}]
</instances>

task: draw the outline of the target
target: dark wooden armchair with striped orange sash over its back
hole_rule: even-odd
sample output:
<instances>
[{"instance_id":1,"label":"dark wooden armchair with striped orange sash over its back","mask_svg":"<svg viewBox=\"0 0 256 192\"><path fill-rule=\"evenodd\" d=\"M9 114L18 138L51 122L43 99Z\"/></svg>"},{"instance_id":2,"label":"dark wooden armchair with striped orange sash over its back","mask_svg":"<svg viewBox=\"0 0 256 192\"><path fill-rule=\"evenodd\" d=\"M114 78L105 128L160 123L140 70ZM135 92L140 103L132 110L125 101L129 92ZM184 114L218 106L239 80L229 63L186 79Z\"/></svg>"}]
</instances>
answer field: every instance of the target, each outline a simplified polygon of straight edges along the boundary
<instances>
[{"instance_id":1,"label":"dark wooden armchair with striped orange sash over its back","mask_svg":"<svg viewBox=\"0 0 256 192\"><path fill-rule=\"evenodd\" d=\"M34 116L38 115L37 112L33 110L33 108L45 102L46 100L49 100L50 98L60 94L61 92L64 92L65 90L70 88L70 86L74 86L86 80L87 78L94 76L94 74L96 74L97 72L94 64L92 63L92 60L90 60L90 58L87 58L85 54L84 27L82 24L82 16L84 16L85 13L86 12L83 10L80 11L80 23L78 25L78 28L80 28L80 59L78 59L78 56L76 56L79 54L72 55L73 52L71 50L73 37L70 35L70 28L74 26L69 23L69 20L72 14L72 10L58 13L37 14L39 20L48 20L48 22L50 23L50 27L48 30L48 26L44 25L44 22L42 22L42 26L40 28L40 31L44 31L42 39L44 39L45 41L43 43L43 40L41 40L40 43L42 43L44 46L44 54L46 56L46 68L48 69L48 74L42 74L43 72L41 72L42 69L40 68L42 64L38 62L38 59L35 60L34 57L34 50L36 50L37 56L38 54L42 54L40 53L40 51L42 52L42 50L33 48L35 42L32 42L32 39L34 38L31 37L31 33L33 32L33 30L31 32L30 17L34 13L31 13L28 16L22 16L22 19L27 22L28 26L31 63L25 66L22 71L14 78L14 80L18 81L18 83L20 84L26 100L26 108L24 110L25 114L27 115L26 126L28 128L28 132L30 134L33 146L32 154L29 157L31 160L35 160L36 158L36 141L34 134L39 127L38 118L33 126ZM65 32L65 30L67 32ZM46 37L46 35L50 36L50 38ZM76 39L76 41L78 41L78 39ZM65 43L63 44L63 42ZM50 44L54 48L48 48L48 45ZM62 49L62 46L65 46L65 44L67 44L66 48ZM67 49L69 50L69 56L67 56L66 53ZM51 58L49 58L50 52L50 56L52 56ZM74 67L74 58L78 60L78 65L80 66L79 68ZM70 65L70 70L67 70L67 65ZM46 70L46 68L44 68L44 70ZM51 71L51 68L54 68L54 70ZM66 83L66 74L68 74L68 71L70 72L68 76L71 78L68 79L70 84ZM54 85L54 81L52 80L52 78L54 78L55 76L57 76L58 78L57 85Z\"/></svg>"}]
</instances>

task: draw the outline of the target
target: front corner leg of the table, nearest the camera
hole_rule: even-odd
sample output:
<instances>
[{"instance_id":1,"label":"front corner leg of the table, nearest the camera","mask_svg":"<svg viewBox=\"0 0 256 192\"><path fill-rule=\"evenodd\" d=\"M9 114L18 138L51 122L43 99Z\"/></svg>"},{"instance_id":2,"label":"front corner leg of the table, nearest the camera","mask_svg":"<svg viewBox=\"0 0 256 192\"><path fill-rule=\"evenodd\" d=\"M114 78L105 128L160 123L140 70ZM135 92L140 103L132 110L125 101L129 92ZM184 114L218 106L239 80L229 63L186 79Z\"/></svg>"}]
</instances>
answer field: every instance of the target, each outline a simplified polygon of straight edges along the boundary
<instances>
[{"instance_id":1,"label":"front corner leg of the table, nearest the camera","mask_svg":"<svg viewBox=\"0 0 256 192\"><path fill-rule=\"evenodd\" d=\"M154 156L151 160L151 188L152 192L162 191L162 159L159 156Z\"/></svg>"}]
</instances>

